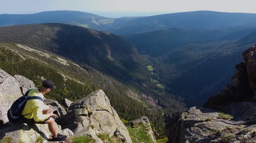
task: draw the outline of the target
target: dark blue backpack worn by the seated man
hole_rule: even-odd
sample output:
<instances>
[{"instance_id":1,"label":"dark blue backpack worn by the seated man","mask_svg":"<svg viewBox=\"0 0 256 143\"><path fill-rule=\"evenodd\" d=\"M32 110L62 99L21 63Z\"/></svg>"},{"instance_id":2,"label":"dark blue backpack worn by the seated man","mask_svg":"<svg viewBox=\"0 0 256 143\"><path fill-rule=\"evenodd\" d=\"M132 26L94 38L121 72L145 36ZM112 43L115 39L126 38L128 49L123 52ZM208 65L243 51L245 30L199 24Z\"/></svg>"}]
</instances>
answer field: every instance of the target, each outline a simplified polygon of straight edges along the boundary
<instances>
[{"instance_id":1,"label":"dark blue backpack worn by the seated man","mask_svg":"<svg viewBox=\"0 0 256 143\"><path fill-rule=\"evenodd\" d=\"M24 116L29 115L30 113L26 115L22 115L22 111L26 105L26 102L31 99L39 99L41 101L44 101L41 97L38 96L32 96L28 97L28 93L32 89L28 90L24 96L19 97L14 103L12 104L11 108L7 111L7 117L9 119L9 122L17 123L19 122Z\"/></svg>"}]
</instances>

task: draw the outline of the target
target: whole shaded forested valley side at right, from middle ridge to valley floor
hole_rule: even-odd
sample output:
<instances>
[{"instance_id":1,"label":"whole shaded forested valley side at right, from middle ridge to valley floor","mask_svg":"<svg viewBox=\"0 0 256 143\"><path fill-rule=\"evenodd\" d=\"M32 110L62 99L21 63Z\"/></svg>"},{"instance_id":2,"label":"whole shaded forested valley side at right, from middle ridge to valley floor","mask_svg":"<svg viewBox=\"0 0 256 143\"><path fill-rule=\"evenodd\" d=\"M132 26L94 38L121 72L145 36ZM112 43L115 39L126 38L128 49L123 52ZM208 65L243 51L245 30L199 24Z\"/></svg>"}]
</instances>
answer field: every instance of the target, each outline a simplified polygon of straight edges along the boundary
<instances>
[{"instance_id":1,"label":"whole shaded forested valley side at right, from middle ridge to valley floor","mask_svg":"<svg viewBox=\"0 0 256 143\"><path fill-rule=\"evenodd\" d=\"M255 43L255 29L169 29L125 35L140 53L152 56L154 79L188 106L202 105L225 87L242 61L241 52Z\"/></svg>"}]
</instances>

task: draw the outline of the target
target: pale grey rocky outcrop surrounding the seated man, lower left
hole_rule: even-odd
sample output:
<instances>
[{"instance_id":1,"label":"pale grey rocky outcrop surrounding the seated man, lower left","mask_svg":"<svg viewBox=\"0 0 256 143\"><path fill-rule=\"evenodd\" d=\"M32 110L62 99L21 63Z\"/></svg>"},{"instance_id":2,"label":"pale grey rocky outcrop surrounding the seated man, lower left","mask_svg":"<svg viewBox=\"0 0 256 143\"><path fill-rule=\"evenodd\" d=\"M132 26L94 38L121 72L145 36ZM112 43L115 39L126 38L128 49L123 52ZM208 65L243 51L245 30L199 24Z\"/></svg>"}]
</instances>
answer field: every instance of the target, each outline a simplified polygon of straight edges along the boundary
<instances>
[{"instance_id":1,"label":"pale grey rocky outcrop surrounding the seated man, lower left","mask_svg":"<svg viewBox=\"0 0 256 143\"><path fill-rule=\"evenodd\" d=\"M23 76L11 76L0 69L0 140L10 142L50 141L51 133L47 124L28 125L8 122L6 112L18 97L35 84ZM96 142L106 142L102 135L114 138L115 142L132 142L129 131L119 119L109 98L102 90L95 91L85 98L72 102L63 99L63 106L57 101L45 99L50 111L57 110L56 122L59 133L68 136L87 136ZM147 120L148 121L148 120ZM150 129L151 130L151 129ZM151 130L152 131L152 130ZM154 137L154 135L153 135ZM155 138L153 138L155 140ZM107 141L108 142L108 141Z\"/></svg>"}]
</instances>

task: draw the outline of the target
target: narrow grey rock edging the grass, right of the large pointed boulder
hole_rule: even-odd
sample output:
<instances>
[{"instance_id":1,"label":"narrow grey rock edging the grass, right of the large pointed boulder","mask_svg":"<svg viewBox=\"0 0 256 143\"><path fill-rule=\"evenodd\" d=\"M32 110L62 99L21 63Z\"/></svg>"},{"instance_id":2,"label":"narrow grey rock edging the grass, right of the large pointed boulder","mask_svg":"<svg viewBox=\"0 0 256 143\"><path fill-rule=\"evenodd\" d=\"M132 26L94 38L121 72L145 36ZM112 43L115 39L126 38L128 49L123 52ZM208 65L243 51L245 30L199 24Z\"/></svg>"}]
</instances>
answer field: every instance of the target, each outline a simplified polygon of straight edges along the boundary
<instances>
[{"instance_id":1,"label":"narrow grey rock edging the grass, right of the large pointed boulder","mask_svg":"<svg viewBox=\"0 0 256 143\"><path fill-rule=\"evenodd\" d=\"M136 124L143 124L146 126L147 134L150 135L152 142L156 143L157 140L155 138L154 132L151 128L150 121L146 116L141 117L140 119L130 121L130 124L136 125Z\"/></svg>"}]
</instances>

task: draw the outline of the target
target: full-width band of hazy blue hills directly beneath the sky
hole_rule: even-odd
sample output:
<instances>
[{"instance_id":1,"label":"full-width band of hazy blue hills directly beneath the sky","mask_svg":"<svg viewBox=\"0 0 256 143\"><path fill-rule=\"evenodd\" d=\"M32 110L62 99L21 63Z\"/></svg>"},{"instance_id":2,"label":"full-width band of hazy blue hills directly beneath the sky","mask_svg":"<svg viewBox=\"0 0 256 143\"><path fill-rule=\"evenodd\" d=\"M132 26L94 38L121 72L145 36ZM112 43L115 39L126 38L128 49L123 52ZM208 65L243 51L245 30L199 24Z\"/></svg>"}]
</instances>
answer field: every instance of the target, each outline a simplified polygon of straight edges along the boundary
<instances>
[{"instance_id":1,"label":"full-width band of hazy blue hills directly beneath the sky","mask_svg":"<svg viewBox=\"0 0 256 143\"><path fill-rule=\"evenodd\" d=\"M107 18L78 11L48 11L35 14L0 15L0 26L49 22L79 25L124 35L168 28L198 30L233 27L242 30L255 27L256 14L193 11L146 17Z\"/></svg>"}]
</instances>

